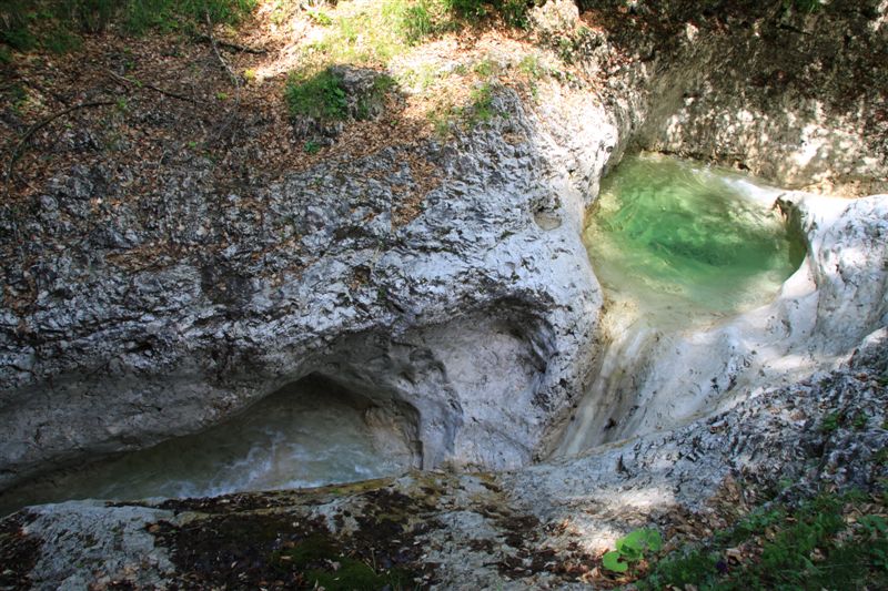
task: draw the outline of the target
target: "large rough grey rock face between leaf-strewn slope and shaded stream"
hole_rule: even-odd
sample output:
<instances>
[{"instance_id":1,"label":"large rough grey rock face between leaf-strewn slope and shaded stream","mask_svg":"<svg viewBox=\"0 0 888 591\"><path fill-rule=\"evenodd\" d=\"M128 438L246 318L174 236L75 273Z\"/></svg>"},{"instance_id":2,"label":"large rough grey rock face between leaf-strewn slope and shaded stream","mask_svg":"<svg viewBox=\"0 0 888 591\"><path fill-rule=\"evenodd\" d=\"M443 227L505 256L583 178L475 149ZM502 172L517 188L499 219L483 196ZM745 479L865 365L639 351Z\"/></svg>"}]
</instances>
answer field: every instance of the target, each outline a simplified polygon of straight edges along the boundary
<instances>
[{"instance_id":1,"label":"large rough grey rock face between leaf-strewn slope and shaded stream","mask_svg":"<svg viewBox=\"0 0 888 591\"><path fill-rule=\"evenodd\" d=\"M596 124L564 152L498 100L508 119L456 145L266 188L210 193L196 163L112 208L103 171L59 177L18 222L30 265L7 259L0 483L196 430L311 373L410 409L417 467L529 461L593 354L581 190L605 159L576 157L618 133L581 106ZM438 184L398 224L416 160Z\"/></svg>"}]
</instances>

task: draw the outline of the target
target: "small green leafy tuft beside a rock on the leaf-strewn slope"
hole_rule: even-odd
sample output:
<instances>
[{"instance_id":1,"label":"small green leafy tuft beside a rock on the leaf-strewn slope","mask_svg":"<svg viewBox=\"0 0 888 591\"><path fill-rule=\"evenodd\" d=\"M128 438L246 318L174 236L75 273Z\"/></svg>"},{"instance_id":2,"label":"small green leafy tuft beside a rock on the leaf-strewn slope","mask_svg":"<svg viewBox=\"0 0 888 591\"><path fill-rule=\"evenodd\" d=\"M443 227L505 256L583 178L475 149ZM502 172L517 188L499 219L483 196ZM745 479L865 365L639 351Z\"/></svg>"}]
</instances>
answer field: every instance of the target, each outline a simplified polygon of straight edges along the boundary
<instances>
[{"instance_id":1,"label":"small green leafy tuft beside a rock on the leaf-strewn slope","mask_svg":"<svg viewBox=\"0 0 888 591\"><path fill-rule=\"evenodd\" d=\"M342 75L332 68L311 77L291 73L284 90L290 114L319 120L345 119L349 101L342 81Z\"/></svg>"}]
</instances>

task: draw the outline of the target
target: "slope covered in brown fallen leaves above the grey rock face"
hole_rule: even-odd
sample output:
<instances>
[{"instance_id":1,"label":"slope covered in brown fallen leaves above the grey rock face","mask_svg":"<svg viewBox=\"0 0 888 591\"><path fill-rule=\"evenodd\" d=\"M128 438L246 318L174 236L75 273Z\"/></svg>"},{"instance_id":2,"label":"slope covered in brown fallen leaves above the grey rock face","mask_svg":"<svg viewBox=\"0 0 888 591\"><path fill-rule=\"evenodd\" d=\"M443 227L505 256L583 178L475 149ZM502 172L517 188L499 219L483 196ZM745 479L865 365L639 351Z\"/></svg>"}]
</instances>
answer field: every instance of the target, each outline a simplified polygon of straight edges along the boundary
<instances>
[{"instance_id":1,"label":"slope covered in brown fallen leaves above the grey rock face","mask_svg":"<svg viewBox=\"0 0 888 591\"><path fill-rule=\"evenodd\" d=\"M213 163L220 190L268 183L321 160L446 135L473 92L476 101L493 84L529 94L548 75L535 40L496 21L412 43L379 32L390 23L372 2L342 2L323 17L276 6L238 28L133 37L112 24L68 53L0 62L4 202L28 202L74 165L118 171L129 193L152 191L164 167L192 159ZM395 90L380 116L315 142L294 129L287 81L342 63L391 72Z\"/></svg>"}]
</instances>

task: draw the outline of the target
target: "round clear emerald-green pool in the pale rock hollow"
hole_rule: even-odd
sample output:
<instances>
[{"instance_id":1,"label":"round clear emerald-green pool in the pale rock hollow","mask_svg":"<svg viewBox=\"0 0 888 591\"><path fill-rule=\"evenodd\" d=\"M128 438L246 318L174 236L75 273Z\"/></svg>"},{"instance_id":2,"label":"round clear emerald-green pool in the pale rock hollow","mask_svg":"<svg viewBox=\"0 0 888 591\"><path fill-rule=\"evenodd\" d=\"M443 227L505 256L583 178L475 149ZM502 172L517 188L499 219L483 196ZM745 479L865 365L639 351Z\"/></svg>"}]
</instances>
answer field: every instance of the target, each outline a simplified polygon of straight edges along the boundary
<instances>
[{"instance_id":1,"label":"round clear emerald-green pool in the pale rock hollow","mask_svg":"<svg viewBox=\"0 0 888 591\"><path fill-rule=\"evenodd\" d=\"M733 315L770 300L804 258L778 194L733 171L627 156L604 180L584 242L606 292L639 312Z\"/></svg>"}]
</instances>

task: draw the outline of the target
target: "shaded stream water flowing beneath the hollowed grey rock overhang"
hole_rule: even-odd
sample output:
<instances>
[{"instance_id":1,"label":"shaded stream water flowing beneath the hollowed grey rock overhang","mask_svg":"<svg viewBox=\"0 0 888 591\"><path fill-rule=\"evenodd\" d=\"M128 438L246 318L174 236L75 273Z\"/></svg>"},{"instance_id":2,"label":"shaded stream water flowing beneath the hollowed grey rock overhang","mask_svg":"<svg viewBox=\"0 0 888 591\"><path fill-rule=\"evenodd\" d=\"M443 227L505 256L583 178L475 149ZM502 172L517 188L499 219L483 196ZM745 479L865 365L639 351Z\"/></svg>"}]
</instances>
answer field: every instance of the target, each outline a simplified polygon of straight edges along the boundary
<instances>
[{"instance_id":1,"label":"shaded stream water flowing beneath the hollowed grey rock overhang","mask_svg":"<svg viewBox=\"0 0 888 591\"><path fill-rule=\"evenodd\" d=\"M412 409L381 405L319 374L231 420L49 475L0 496L0 513L72 499L210 497L401 473L415 463Z\"/></svg>"}]
</instances>

